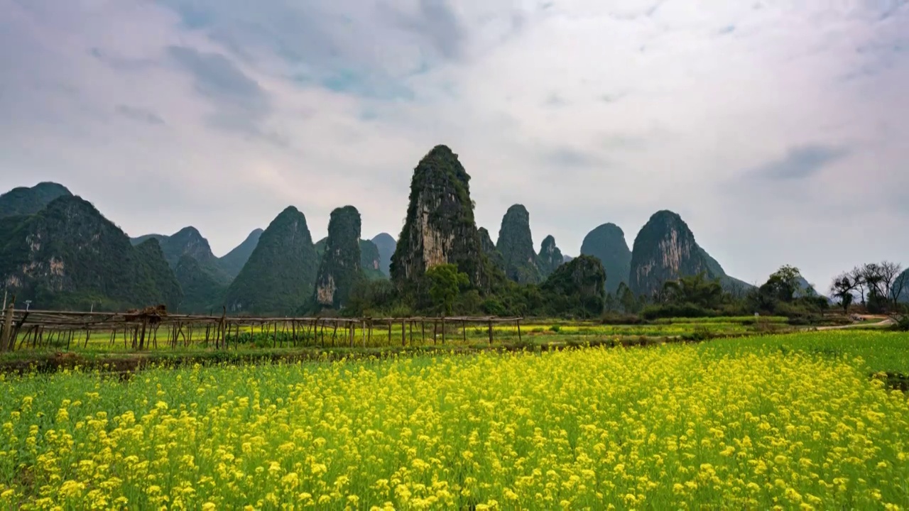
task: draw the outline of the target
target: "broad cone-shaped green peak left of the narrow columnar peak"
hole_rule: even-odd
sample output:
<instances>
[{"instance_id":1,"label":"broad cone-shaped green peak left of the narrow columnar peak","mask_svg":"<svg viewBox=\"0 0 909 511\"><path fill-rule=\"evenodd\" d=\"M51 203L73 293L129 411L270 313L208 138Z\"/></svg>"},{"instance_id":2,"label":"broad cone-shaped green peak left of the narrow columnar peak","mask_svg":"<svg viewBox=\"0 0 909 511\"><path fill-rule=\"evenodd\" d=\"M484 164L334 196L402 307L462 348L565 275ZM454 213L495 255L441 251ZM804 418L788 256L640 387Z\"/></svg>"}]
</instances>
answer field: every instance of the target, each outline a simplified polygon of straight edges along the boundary
<instances>
[{"instance_id":1,"label":"broad cone-shaped green peak left of the narrow columnar peak","mask_svg":"<svg viewBox=\"0 0 909 511\"><path fill-rule=\"evenodd\" d=\"M294 314L313 296L319 262L306 217L288 206L268 225L225 294L234 313Z\"/></svg>"}]
</instances>

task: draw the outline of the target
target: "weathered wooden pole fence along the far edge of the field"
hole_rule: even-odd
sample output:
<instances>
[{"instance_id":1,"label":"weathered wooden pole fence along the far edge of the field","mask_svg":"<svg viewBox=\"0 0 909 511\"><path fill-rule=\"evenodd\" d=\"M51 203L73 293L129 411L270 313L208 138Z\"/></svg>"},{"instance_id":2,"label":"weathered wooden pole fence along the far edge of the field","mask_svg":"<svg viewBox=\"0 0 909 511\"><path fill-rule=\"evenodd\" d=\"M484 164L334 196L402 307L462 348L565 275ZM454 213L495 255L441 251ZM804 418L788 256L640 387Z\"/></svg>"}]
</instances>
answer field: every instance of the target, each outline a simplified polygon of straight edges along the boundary
<instances>
[{"instance_id":1,"label":"weathered wooden pole fence along the far edge of the field","mask_svg":"<svg viewBox=\"0 0 909 511\"><path fill-rule=\"evenodd\" d=\"M124 349L202 345L215 349L239 347L257 340L271 340L278 346L417 346L445 343L446 335L467 340L467 328L485 330L488 343L494 341L494 326L517 327L521 338L521 317L245 317L168 315L153 307L125 313L72 312L15 309L4 311L0 330L0 352L21 349L64 347L68 351L87 347L105 336L111 347ZM393 329L400 326L400 332ZM393 328L395 327L395 328ZM460 335L458 335L460 334ZM400 339L397 336L400 335ZM441 335L441 339L439 336ZM452 339L454 340L454 339Z\"/></svg>"}]
</instances>

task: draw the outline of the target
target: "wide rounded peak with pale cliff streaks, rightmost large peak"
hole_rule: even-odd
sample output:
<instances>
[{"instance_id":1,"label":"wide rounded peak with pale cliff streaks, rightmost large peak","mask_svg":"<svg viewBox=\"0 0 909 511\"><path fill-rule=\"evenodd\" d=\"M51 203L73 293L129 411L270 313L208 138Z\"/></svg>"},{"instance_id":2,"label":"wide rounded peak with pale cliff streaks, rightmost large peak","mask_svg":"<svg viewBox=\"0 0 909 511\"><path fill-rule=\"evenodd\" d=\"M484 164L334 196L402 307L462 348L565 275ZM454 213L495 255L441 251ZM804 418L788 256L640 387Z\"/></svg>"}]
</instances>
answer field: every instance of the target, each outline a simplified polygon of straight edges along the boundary
<instances>
[{"instance_id":1,"label":"wide rounded peak with pale cliff streaks, rightmost large peak","mask_svg":"<svg viewBox=\"0 0 909 511\"><path fill-rule=\"evenodd\" d=\"M628 287L635 295L651 296L666 281L709 271L704 251L682 217L658 211L634 238Z\"/></svg>"}]
</instances>

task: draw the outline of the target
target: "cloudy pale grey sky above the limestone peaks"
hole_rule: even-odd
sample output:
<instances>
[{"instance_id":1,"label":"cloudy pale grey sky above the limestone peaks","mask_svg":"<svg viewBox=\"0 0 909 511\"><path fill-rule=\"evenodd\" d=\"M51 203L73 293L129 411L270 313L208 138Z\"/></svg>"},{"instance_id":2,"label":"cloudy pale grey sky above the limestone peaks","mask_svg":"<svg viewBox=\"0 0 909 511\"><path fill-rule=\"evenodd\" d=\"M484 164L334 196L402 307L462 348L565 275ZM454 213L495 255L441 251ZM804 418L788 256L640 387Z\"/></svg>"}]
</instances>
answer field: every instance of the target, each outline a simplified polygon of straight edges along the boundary
<instances>
[{"instance_id":1,"label":"cloudy pale grey sky above the limestone peaks","mask_svg":"<svg viewBox=\"0 0 909 511\"><path fill-rule=\"evenodd\" d=\"M287 205L400 233L445 144L477 224L629 246L671 209L729 275L909 265L909 0L0 0L0 190L55 181L223 255Z\"/></svg>"}]
</instances>

